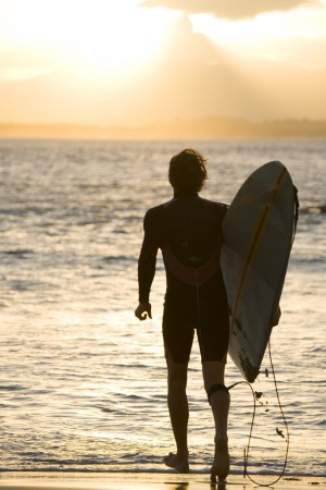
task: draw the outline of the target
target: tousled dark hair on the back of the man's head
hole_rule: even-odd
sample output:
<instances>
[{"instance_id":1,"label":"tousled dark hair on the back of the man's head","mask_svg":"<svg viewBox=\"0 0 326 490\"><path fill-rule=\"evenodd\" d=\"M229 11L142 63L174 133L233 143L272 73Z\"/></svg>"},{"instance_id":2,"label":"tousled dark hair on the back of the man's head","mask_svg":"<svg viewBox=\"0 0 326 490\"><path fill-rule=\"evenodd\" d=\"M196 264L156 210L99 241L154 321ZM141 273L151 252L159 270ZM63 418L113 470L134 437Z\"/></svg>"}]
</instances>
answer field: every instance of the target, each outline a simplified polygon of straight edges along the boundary
<instances>
[{"instance_id":1,"label":"tousled dark hair on the back of the man's head","mask_svg":"<svg viewBox=\"0 0 326 490\"><path fill-rule=\"evenodd\" d=\"M199 151L186 148L171 159L168 181L178 193L198 193L206 179L206 159Z\"/></svg>"}]
</instances>

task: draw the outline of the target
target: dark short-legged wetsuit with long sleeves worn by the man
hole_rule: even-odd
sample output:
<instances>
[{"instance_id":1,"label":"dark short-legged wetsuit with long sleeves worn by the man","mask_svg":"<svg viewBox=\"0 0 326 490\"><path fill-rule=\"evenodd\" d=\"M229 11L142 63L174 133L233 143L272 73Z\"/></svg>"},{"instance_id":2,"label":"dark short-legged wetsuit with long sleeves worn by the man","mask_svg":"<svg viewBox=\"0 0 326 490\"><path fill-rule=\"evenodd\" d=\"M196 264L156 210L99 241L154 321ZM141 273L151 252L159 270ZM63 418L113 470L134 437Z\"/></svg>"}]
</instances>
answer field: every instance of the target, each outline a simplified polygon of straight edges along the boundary
<instances>
[{"instance_id":1,"label":"dark short-legged wetsuit with long sleeves worn by the man","mask_svg":"<svg viewBox=\"0 0 326 490\"><path fill-rule=\"evenodd\" d=\"M161 248L166 271L165 355L189 360L197 329L202 360L226 360L229 323L220 268L221 228L227 206L192 196L149 209L138 262L139 302L147 303Z\"/></svg>"}]
</instances>

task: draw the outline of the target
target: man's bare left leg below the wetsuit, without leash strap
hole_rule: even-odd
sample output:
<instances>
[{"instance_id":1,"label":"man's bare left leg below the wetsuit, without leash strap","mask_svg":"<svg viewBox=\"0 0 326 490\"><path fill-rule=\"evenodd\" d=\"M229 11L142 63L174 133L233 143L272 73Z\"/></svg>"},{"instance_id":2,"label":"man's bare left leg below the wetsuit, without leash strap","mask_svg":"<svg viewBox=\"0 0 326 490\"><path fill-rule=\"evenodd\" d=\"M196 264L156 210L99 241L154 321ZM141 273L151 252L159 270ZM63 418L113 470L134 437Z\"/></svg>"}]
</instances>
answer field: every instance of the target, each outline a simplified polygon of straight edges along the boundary
<instances>
[{"instance_id":1,"label":"man's bare left leg below the wetsuit, without leash strap","mask_svg":"<svg viewBox=\"0 0 326 490\"><path fill-rule=\"evenodd\" d=\"M166 356L166 364L167 406L177 453L170 453L164 462L179 473L189 473L187 437L189 408L186 394L188 363L174 363Z\"/></svg>"}]
</instances>

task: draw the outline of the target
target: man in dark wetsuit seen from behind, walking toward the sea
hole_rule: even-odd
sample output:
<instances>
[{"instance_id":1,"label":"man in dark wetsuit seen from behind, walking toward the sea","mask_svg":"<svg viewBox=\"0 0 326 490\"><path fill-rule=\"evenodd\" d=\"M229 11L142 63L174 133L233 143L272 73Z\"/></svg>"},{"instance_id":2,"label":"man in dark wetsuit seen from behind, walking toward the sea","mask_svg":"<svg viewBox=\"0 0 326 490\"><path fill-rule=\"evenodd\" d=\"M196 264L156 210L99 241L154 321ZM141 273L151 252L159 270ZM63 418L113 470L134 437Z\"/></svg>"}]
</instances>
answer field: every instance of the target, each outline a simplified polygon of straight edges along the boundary
<instances>
[{"instance_id":1,"label":"man in dark wetsuit seen from behind, walking toward the sea","mask_svg":"<svg viewBox=\"0 0 326 490\"><path fill-rule=\"evenodd\" d=\"M167 365L167 405L176 453L164 462L189 473L186 394L187 369L195 330L200 345L204 388L215 421L212 480L229 470L227 417L229 393L224 384L228 347L228 306L220 267L222 222L227 207L199 197L208 179L206 160L193 149L172 158L168 180L172 200L150 209L138 262L139 320L151 318L149 294L161 248L166 271L163 339Z\"/></svg>"}]
</instances>

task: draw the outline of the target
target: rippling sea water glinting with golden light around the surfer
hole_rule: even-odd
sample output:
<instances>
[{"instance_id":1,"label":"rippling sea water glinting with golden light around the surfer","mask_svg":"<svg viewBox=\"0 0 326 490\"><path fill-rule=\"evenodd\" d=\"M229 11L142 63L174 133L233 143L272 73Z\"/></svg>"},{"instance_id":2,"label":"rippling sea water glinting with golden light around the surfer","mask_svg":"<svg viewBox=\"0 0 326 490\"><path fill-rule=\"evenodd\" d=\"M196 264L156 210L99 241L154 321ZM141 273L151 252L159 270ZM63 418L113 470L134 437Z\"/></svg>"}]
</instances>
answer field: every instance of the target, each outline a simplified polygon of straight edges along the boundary
<instances>
[{"instance_id":1,"label":"rippling sea water glinting with golden light around the surfer","mask_svg":"<svg viewBox=\"0 0 326 490\"><path fill-rule=\"evenodd\" d=\"M153 320L139 322L134 309L142 218L171 198L167 164L187 146L209 157L203 197L230 203L253 170L276 159L299 189L271 348L289 427L287 473L325 475L325 140L0 140L0 470L167 470L161 258ZM240 380L229 360L226 384ZM288 436L267 355L253 389L262 395L248 469L277 474ZM188 393L190 465L206 471L214 429L197 342ZM250 388L234 388L235 473L243 470L252 408Z\"/></svg>"}]
</instances>

